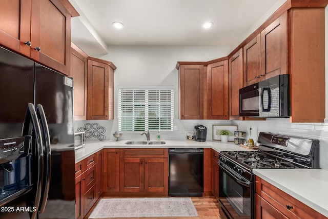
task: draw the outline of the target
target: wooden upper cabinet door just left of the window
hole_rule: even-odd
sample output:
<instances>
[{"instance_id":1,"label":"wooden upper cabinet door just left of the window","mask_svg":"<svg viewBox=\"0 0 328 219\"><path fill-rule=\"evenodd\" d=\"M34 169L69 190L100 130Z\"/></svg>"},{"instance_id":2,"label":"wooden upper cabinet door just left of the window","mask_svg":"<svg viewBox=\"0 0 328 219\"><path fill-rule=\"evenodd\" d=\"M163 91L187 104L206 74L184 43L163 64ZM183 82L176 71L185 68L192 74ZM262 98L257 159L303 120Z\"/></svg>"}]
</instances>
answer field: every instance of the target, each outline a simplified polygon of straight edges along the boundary
<instances>
[{"instance_id":1,"label":"wooden upper cabinet door just left of the window","mask_svg":"<svg viewBox=\"0 0 328 219\"><path fill-rule=\"evenodd\" d=\"M87 120L108 120L109 66L88 59Z\"/></svg>"}]
</instances>

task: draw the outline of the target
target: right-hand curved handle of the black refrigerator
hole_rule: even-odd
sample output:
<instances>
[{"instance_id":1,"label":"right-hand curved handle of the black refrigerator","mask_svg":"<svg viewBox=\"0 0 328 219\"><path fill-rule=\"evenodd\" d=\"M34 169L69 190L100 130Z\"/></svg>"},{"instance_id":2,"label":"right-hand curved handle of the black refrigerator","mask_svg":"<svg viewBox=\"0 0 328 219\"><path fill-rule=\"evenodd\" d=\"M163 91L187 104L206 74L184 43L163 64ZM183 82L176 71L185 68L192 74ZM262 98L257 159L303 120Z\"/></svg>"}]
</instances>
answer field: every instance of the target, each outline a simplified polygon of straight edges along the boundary
<instances>
[{"instance_id":1,"label":"right-hand curved handle of the black refrigerator","mask_svg":"<svg viewBox=\"0 0 328 219\"><path fill-rule=\"evenodd\" d=\"M44 177L42 184L42 197L40 201L39 211L43 213L46 208L48 194L49 194L49 186L50 186L50 175L51 175L51 142L50 142L50 134L49 127L47 123L47 118L43 106L38 104L37 108L37 116L40 120L41 127L43 129L43 137L45 140L45 160L44 160Z\"/></svg>"}]
</instances>

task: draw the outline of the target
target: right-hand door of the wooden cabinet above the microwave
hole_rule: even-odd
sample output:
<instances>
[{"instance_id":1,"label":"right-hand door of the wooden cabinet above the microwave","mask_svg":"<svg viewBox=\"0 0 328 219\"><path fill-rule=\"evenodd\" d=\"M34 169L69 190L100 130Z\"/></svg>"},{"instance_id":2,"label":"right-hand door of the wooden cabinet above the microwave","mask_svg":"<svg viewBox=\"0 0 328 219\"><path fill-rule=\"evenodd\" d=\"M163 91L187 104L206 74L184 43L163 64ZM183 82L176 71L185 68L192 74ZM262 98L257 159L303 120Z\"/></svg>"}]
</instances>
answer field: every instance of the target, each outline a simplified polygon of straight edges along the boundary
<instances>
[{"instance_id":1,"label":"right-hand door of the wooden cabinet above the microwave","mask_svg":"<svg viewBox=\"0 0 328 219\"><path fill-rule=\"evenodd\" d=\"M288 74L287 12L261 32L261 80Z\"/></svg>"}]
</instances>

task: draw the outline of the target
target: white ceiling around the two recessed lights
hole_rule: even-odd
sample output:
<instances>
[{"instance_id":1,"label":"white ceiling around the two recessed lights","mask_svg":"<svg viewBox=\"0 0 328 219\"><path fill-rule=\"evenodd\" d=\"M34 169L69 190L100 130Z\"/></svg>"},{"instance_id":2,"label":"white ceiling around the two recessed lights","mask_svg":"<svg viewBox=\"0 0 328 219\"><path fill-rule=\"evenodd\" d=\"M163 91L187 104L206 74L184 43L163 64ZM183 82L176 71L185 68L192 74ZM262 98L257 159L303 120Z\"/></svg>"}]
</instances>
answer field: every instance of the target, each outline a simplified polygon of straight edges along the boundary
<instances>
[{"instance_id":1,"label":"white ceiling around the two recessed lights","mask_svg":"<svg viewBox=\"0 0 328 219\"><path fill-rule=\"evenodd\" d=\"M106 54L108 46L233 46L284 0L70 2L80 14L72 18L72 41L87 54L97 56ZM115 21L124 28L113 28ZM202 24L208 21L214 26L203 29Z\"/></svg>"}]
</instances>

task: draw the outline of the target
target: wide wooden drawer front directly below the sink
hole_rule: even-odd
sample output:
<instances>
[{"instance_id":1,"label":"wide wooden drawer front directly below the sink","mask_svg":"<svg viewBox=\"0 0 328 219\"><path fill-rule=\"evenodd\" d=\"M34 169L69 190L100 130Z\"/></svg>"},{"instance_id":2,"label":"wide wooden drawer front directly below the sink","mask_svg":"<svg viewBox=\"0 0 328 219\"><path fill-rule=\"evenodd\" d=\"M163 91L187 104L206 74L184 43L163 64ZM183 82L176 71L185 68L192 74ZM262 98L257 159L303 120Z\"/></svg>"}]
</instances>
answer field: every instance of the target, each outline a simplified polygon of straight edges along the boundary
<instances>
[{"instance_id":1,"label":"wide wooden drawer front directly below the sink","mask_svg":"<svg viewBox=\"0 0 328 219\"><path fill-rule=\"evenodd\" d=\"M168 157L169 150L164 148L120 149L120 157Z\"/></svg>"}]
</instances>

